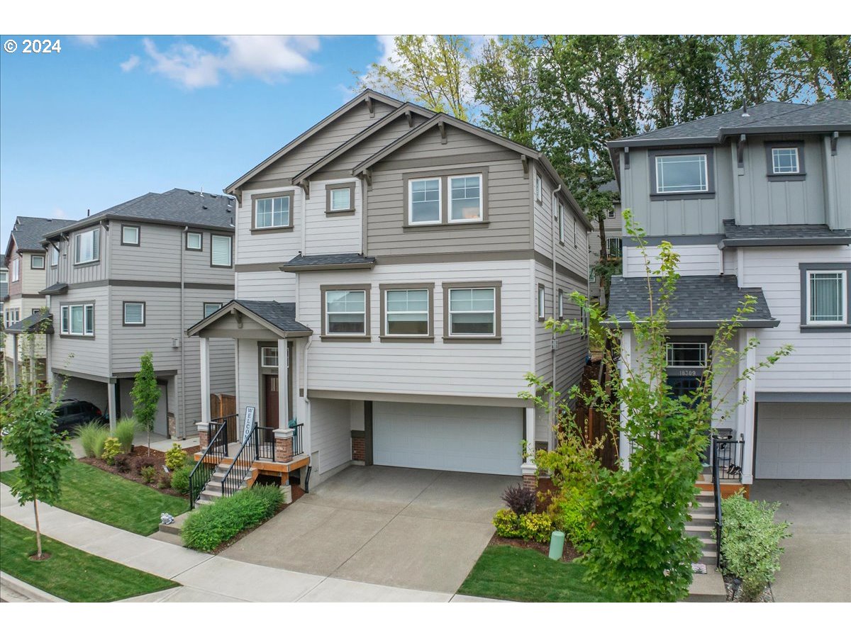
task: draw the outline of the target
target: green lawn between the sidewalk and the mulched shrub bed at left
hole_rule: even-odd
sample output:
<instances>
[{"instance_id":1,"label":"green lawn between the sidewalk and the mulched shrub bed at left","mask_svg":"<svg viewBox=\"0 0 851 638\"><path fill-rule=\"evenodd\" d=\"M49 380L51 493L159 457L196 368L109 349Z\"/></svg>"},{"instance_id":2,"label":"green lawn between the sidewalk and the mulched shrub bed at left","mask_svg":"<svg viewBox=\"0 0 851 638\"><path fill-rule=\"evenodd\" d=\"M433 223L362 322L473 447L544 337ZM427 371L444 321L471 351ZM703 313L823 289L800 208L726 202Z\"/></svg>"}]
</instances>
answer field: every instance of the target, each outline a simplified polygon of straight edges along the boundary
<instances>
[{"instance_id":1,"label":"green lawn between the sidewalk and the mulched shrub bed at left","mask_svg":"<svg viewBox=\"0 0 851 638\"><path fill-rule=\"evenodd\" d=\"M0 472L0 481L9 485L15 471ZM62 496L54 505L146 536L157 531L161 513L177 516L189 509L186 498L168 496L80 461L63 471Z\"/></svg>"}]
</instances>

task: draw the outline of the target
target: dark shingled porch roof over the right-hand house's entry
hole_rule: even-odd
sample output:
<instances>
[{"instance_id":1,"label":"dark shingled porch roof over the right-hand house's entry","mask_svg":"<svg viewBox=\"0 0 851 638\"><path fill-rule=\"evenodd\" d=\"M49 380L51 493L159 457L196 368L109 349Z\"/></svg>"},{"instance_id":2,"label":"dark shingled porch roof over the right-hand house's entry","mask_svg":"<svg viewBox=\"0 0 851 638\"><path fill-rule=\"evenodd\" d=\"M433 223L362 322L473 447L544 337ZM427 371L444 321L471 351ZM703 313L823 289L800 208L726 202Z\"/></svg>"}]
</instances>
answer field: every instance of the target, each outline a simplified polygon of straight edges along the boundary
<instances>
[{"instance_id":1,"label":"dark shingled porch roof over the right-hand house's entry","mask_svg":"<svg viewBox=\"0 0 851 638\"><path fill-rule=\"evenodd\" d=\"M654 280L654 304L659 301L659 289L659 282ZM776 326L778 322L771 316L762 288L739 288L734 275L681 276L667 318L680 323L723 322L734 316L746 294L756 297L757 303L754 311L745 315L742 325ZM608 314L621 325L629 323L628 311L639 319L650 314L647 280L643 277L612 277L609 299Z\"/></svg>"}]
</instances>

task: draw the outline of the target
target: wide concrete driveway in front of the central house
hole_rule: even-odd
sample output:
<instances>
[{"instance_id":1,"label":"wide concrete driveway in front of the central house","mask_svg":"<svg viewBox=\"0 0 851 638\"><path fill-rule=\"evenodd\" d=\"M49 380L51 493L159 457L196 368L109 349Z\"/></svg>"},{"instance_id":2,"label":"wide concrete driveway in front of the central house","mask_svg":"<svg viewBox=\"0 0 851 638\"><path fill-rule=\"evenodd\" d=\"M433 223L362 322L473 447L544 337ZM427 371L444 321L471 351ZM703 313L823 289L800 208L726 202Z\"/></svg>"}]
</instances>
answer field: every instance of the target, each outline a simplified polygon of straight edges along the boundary
<instances>
[{"instance_id":1,"label":"wide concrete driveway in front of the central house","mask_svg":"<svg viewBox=\"0 0 851 638\"><path fill-rule=\"evenodd\" d=\"M221 555L363 583L454 593L520 477L352 466Z\"/></svg>"}]
</instances>

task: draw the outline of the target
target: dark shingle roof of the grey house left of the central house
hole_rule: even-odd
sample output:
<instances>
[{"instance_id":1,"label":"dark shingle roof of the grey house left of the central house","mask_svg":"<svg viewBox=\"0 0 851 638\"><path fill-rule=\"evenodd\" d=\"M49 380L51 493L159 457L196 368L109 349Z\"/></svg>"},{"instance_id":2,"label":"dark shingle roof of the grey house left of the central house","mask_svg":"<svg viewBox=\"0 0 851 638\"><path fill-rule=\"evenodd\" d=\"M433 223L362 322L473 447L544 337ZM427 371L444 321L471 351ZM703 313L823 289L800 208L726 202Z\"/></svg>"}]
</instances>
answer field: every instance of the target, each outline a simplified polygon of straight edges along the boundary
<instances>
[{"instance_id":1,"label":"dark shingle roof of the grey house left of the central house","mask_svg":"<svg viewBox=\"0 0 851 638\"><path fill-rule=\"evenodd\" d=\"M164 193L146 193L134 197L77 222L66 221L65 225L54 228L47 236L59 236L60 233L74 231L103 219L233 231L233 211L234 202L226 195L173 188Z\"/></svg>"}]
</instances>

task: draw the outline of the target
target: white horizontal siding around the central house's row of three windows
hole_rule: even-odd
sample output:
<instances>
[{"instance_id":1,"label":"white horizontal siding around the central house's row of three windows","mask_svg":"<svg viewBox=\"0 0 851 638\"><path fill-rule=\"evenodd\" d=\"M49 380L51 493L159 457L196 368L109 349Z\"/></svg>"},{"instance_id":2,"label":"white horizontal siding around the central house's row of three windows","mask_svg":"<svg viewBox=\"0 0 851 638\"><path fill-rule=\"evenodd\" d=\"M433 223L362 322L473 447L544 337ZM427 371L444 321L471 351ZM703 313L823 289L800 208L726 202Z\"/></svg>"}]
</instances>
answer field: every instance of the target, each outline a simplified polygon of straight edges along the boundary
<instances>
[{"instance_id":1,"label":"white horizontal siding around the central house's row of three windows","mask_svg":"<svg viewBox=\"0 0 851 638\"><path fill-rule=\"evenodd\" d=\"M534 295L530 260L388 265L374 271L330 271L300 275L300 321L314 331L309 352L309 390L399 392L404 394L517 398L532 366L529 334ZM501 343L443 342L443 282L501 281ZM381 342L380 283L433 283L434 342ZM318 338L322 330L320 286L370 286L371 340ZM340 374L340 370L349 371Z\"/></svg>"}]
</instances>

